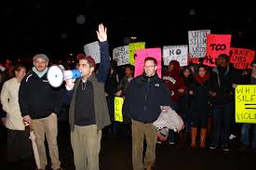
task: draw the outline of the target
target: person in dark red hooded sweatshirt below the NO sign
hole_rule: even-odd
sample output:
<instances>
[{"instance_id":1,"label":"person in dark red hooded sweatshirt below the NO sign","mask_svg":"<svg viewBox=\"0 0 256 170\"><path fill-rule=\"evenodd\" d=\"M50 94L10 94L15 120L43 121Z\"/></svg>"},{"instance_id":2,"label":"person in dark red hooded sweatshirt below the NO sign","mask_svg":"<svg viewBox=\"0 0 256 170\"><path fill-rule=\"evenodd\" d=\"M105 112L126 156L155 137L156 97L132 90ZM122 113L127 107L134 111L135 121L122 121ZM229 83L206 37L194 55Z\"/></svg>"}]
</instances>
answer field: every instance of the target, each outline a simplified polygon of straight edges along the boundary
<instances>
[{"instance_id":1,"label":"person in dark red hooded sweatshirt below the NO sign","mask_svg":"<svg viewBox=\"0 0 256 170\"><path fill-rule=\"evenodd\" d=\"M168 85L168 89L170 91L170 101L171 108L174 111L178 111L178 101L179 97L185 91L184 81L182 76L179 74L180 72L180 63L177 60L171 60L168 64L168 72L165 72L163 75L164 82ZM172 131L169 134L169 144L175 144L175 138Z\"/></svg>"}]
</instances>

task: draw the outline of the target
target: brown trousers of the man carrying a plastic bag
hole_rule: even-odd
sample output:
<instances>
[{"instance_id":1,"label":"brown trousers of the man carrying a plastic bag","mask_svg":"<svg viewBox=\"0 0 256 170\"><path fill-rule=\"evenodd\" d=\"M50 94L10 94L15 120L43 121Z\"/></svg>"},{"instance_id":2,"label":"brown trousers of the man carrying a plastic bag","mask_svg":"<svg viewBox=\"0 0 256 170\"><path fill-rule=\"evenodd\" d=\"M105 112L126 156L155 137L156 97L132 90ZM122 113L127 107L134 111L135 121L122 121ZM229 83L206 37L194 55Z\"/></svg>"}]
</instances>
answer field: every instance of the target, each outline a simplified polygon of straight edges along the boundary
<instances>
[{"instance_id":1,"label":"brown trousers of the man carrying a plastic bag","mask_svg":"<svg viewBox=\"0 0 256 170\"><path fill-rule=\"evenodd\" d=\"M132 120L132 165L134 170L143 170L143 167L152 167L155 163L156 128L153 124L143 124ZM147 149L142 163L144 138Z\"/></svg>"}]
</instances>

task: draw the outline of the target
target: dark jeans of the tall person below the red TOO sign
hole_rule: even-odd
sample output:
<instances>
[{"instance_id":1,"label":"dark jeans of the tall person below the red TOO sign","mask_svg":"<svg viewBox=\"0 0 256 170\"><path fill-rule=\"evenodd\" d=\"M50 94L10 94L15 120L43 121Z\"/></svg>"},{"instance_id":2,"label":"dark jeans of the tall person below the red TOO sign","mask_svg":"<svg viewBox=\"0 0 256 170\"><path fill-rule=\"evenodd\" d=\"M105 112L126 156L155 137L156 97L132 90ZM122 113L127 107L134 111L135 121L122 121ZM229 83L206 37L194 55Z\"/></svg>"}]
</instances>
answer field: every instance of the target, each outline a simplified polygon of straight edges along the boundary
<instances>
[{"instance_id":1,"label":"dark jeans of the tall person below the red TOO sign","mask_svg":"<svg viewBox=\"0 0 256 170\"><path fill-rule=\"evenodd\" d=\"M231 104L213 106L212 143L228 143L231 126ZM221 141L222 138L222 141Z\"/></svg>"}]
</instances>

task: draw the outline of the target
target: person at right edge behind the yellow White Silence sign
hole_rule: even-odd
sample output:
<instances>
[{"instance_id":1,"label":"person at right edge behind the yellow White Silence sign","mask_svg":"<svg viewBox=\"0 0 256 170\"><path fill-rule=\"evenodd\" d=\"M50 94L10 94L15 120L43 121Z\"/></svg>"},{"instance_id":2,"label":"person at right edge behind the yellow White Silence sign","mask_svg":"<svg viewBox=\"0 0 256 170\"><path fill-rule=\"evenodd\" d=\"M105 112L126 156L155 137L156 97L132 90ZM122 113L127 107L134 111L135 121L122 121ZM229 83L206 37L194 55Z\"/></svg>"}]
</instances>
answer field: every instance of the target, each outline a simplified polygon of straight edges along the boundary
<instances>
[{"instance_id":1,"label":"person at right edge behind the yellow White Silence sign","mask_svg":"<svg viewBox=\"0 0 256 170\"><path fill-rule=\"evenodd\" d=\"M253 60L250 64L251 73L243 76L244 85L256 85L256 60ZM254 110L255 111L255 110ZM243 124L241 128L241 146L239 150L245 151L249 148L249 129L253 128L253 137L251 141L252 150L256 151L256 124Z\"/></svg>"}]
</instances>

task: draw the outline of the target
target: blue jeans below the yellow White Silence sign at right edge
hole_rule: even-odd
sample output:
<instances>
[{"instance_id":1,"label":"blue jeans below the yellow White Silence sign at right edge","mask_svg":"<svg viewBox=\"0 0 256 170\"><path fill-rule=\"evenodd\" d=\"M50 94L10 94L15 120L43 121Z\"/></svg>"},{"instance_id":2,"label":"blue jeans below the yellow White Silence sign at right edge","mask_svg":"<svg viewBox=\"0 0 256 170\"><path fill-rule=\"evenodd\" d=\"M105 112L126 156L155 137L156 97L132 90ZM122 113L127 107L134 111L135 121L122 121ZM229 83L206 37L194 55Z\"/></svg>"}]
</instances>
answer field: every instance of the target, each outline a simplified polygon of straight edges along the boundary
<instances>
[{"instance_id":1,"label":"blue jeans below the yellow White Silence sign at right edge","mask_svg":"<svg viewBox=\"0 0 256 170\"><path fill-rule=\"evenodd\" d=\"M253 127L253 137L251 145L256 148L256 124L243 124L241 128L241 142L245 145L249 145L249 129Z\"/></svg>"}]
</instances>

